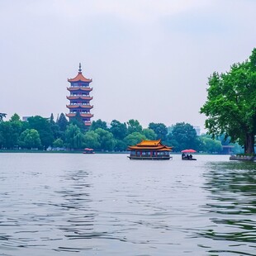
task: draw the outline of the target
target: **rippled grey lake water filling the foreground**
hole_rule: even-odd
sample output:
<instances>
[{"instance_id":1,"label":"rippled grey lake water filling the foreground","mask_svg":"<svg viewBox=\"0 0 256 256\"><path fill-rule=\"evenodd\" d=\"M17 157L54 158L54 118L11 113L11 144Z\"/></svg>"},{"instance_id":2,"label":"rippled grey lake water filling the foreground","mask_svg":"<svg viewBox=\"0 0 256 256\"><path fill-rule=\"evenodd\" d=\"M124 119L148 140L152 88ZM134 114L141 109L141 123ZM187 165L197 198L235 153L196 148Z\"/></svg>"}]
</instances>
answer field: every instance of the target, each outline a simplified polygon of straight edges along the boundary
<instances>
[{"instance_id":1,"label":"rippled grey lake water filling the foreground","mask_svg":"<svg viewBox=\"0 0 256 256\"><path fill-rule=\"evenodd\" d=\"M256 163L0 154L0 255L256 255Z\"/></svg>"}]
</instances>

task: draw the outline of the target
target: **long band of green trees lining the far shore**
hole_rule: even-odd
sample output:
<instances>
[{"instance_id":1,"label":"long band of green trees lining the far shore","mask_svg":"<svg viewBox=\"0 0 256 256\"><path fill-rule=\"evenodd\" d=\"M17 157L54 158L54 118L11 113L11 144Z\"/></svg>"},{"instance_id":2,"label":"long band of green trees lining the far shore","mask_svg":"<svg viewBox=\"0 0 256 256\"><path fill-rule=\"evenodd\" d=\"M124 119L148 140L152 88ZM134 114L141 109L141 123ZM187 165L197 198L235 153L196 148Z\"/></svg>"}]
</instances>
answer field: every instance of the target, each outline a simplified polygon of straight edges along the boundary
<instances>
[{"instance_id":1,"label":"long band of green trees lining the far shore","mask_svg":"<svg viewBox=\"0 0 256 256\"><path fill-rule=\"evenodd\" d=\"M128 145L135 145L141 140L159 140L173 146L174 152L182 149L196 149L198 152L221 153L223 145L230 145L224 136L211 139L210 135L197 135L188 123L177 123L167 127L163 123L149 123L143 128L140 122L131 119L127 122L92 121L88 128L79 115L68 121L63 113L54 120L42 116L31 116L21 121L14 114L9 121L0 121L0 149L67 149L81 150L92 148L98 151L125 151ZM235 144L235 153L241 148Z\"/></svg>"}]
</instances>

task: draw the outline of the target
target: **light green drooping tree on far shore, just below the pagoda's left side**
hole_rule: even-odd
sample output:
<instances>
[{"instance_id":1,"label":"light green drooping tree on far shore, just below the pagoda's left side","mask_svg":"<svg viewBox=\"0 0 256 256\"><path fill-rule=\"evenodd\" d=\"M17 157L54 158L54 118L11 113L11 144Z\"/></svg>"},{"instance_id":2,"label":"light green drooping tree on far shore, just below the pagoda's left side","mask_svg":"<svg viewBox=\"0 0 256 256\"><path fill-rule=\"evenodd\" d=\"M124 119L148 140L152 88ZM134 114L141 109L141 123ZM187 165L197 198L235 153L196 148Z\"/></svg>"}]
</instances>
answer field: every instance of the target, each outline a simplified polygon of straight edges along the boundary
<instances>
[{"instance_id":1,"label":"light green drooping tree on far shore, just below the pagoda's left side","mask_svg":"<svg viewBox=\"0 0 256 256\"><path fill-rule=\"evenodd\" d=\"M66 146L69 149L82 149L83 148L83 134L78 126L69 124L65 131Z\"/></svg>"}]
</instances>

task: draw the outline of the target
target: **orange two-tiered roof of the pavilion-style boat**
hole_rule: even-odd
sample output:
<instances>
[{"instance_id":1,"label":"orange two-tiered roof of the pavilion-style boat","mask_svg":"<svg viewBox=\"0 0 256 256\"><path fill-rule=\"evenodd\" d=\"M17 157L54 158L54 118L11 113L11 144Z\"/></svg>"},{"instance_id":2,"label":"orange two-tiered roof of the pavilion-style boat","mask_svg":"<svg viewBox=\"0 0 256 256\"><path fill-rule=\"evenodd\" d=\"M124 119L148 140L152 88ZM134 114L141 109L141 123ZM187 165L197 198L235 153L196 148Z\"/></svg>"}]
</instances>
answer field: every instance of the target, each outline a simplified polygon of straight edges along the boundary
<instances>
[{"instance_id":1,"label":"orange two-tiered roof of the pavilion-style boat","mask_svg":"<svg viewBox=\"0 0 256 256\"><path fill-rule=\"evenodd\" d=\"M142 140L140 143L129 146L129 150L157 150L157 151L172 151L173 147L168 147L161 143L161 140Z\"/></svg>"}]
</instances>

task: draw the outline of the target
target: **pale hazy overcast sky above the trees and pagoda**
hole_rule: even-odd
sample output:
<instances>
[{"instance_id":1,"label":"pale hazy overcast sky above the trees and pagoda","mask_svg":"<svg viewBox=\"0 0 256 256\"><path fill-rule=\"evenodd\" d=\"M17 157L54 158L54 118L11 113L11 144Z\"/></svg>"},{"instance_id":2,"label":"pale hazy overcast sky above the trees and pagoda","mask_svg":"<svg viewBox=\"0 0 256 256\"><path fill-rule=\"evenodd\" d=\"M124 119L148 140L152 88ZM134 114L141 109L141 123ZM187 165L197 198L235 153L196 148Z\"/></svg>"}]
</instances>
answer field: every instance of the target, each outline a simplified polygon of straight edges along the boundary
<instances>
[{"instance_id":1,"label":"pale hazy overcast sky above the trees and pagoda","mask_svg":"<svg viewBox=\"0 0 256 256\"><path fill-rule=\"evenodd\" d=\"M254 0L0 0L0 112L68 113L81 63L92 120L204 130L208 78L249 58L255 10Z\"/></svg>"}]
</instances>

